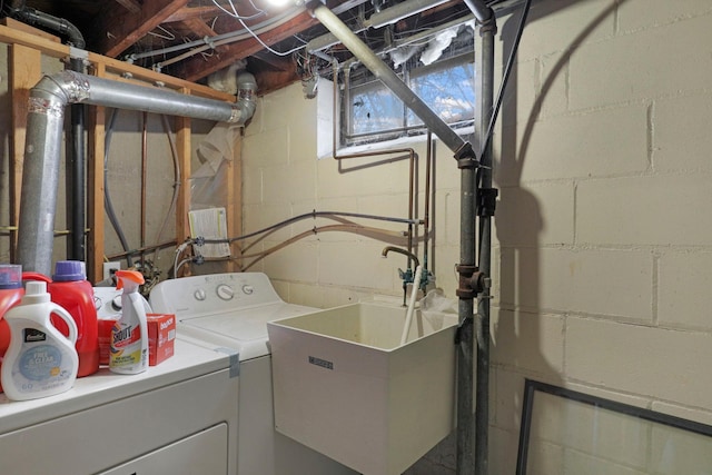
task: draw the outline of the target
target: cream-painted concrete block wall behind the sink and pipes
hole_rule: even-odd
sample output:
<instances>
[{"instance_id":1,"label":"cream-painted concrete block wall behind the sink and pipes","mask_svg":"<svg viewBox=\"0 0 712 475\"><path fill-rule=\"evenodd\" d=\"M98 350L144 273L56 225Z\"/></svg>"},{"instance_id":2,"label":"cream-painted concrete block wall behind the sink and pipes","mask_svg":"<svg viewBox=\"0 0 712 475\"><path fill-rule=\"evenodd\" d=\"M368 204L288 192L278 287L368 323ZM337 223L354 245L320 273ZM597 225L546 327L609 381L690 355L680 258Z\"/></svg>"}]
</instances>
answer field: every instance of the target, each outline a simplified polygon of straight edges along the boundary
<instances>
[{"instance_id":1,"label":"cream-painted concrete block wall behind the sink and pipes","mask_svg":"<svg viewBox=\"0 0 712 475\"><path fill-rule=\"evenodd\" d=\"M500 19L500 66L517 21ZM494 140L491 473L514 473L525 378L712 424L711 44L708 0L534 2ZM318 160L330 140L317 135L324 117L298 85L260 99L244 149L247 231L312 209L403 216L407 161L339 170ZM424 147L414 148L422 170ZM436 160L432 259L455 298L459 174L442 145ZM283 228L256 248L320 224ZM383 246L316 234L254 269L305 305L400 296L405 261L382 259ZM665 437L639 442L650 454ZM601 463L583 448L557 453L538 445L537 473ZM639 462L619 459L615 473L645 473ZM454 473L452 438L408 472L425 473Z\"/></svg>"}]
</instances>

